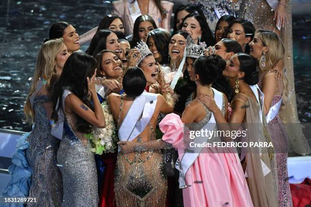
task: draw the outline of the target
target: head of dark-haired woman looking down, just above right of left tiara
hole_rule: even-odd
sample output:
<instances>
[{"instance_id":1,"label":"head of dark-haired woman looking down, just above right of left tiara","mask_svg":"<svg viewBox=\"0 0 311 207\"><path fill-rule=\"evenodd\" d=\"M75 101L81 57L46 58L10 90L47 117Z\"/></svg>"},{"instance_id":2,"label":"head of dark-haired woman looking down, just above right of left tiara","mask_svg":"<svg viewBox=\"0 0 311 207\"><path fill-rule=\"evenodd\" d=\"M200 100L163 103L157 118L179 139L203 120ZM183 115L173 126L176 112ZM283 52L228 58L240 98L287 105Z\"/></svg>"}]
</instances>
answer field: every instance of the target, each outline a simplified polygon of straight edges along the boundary
<instances>
[{"instance_id":1,"label":"head of dark-haired woman looking down, just above right of left tiara","mask_svg":"<svg viewBox=\"0 0 311 207\"><path fill-rule=\"evenodd\" d=\"M155 60L162 66L166 66L169 62L168 46L170 39L171 34L162 28L154 29L148 33L146 43Z\"/></svg>"}]
</instances>

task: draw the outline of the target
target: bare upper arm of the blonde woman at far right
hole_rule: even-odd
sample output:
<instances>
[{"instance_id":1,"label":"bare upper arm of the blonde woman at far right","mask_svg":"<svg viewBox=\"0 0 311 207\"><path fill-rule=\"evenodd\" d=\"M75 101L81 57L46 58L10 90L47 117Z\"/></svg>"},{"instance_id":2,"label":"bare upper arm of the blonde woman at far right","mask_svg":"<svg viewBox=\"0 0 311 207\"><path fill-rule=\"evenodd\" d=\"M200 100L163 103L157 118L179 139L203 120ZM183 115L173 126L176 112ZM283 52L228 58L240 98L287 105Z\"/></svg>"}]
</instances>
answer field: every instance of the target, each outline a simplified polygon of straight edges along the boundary
<instances>
[{"instance_id":1,"label":"bare upper arm of the blonde woman at far right","mask_svg":"<svg viewBox=\"0 0 311 207\"><path fill-rule=\"evenodd\" d=\"M263 112L266 116L269 112L273 96L277 89L277 80L274 73L267 73L262 79L262 92L265 94Z\"/></svg>"}]
</instances>

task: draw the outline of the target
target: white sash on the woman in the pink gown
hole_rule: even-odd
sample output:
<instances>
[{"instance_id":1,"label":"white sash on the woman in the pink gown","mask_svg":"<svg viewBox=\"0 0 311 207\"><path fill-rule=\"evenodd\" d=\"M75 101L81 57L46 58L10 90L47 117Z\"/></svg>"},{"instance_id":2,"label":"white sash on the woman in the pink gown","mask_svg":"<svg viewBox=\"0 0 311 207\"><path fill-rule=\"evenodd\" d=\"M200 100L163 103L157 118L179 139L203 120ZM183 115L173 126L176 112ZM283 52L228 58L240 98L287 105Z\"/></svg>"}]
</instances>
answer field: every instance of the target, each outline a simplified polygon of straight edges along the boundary
<instances>
[{"instance_id":1,"label":"white sash on the woman in the pink gown","mask_svg":"<svg viewBox=\"0 0 311 207\"><path fill-rule=\"evenodd\" d=\"M214 91L214 99L216 101L217 107L222 109L223 94L214 88L212 88L212 90ZM209 121L203 126L203 128L212 131L212 130L214 130L215 127L216 127L216 121L215 121L215 117L212 113ZM208 137L197 136L194 139L194 143L198 143L198 144L204 143L204 142L206 142L206 139L208 139ZM197 149L201 152L203 147L201 147L201 148L197 147ZM183 154L182 158L181 159L179 158L181 161L180 162L179 162L179 160L176 161L175 168L179 170L179 188L188 187L186 185L186 182L185 182L185 174L188 171L188 169L192 166L192 164L196 161L199 154L200 153L185 152Z\"/></svg>"}]
</instances>

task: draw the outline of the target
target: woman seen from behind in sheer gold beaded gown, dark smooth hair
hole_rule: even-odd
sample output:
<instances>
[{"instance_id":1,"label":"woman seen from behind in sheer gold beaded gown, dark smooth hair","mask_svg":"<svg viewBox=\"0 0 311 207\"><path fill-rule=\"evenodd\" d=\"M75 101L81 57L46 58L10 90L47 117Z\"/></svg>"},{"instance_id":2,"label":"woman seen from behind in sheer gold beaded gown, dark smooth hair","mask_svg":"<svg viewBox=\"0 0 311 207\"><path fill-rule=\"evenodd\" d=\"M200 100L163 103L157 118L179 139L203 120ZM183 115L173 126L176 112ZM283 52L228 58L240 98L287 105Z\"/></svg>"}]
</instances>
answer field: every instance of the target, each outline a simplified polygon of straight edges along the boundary
<instances>
[{"instance_id":1,"label":"woman seen from behind in sheer gold beaded gown, dark smooth hair","mask_svg":"<svg viewBox=\"0 0 311 207\"><path fill-rule=\"evenodd\" d=\"M107 97L120 140L114 178L116 205L165 206L167 179L161 149L171 149L171 145L157 140L154 129L159 113L171 113L173 106L161 94L144 92L147 80L139 67L129 67L122 84L125 93L111 93ZM141 108L148 113L143 113L140 121L136 117L141 115ZM129 127L132 129L129 124L134 127L134 134L125 132ZM138 129L136 124L143 128Z\"/></svg>"}]
</instances>

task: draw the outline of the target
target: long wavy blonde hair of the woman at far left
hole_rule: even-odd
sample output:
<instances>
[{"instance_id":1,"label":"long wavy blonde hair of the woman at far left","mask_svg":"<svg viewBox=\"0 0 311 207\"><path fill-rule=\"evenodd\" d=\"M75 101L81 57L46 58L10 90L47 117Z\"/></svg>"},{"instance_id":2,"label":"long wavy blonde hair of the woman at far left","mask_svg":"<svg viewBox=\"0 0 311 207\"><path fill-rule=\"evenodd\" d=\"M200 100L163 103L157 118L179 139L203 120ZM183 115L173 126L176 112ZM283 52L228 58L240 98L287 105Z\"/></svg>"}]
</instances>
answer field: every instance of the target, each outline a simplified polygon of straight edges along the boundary
<instances>
[{"instance_id":1,"label":"long wavy blonde hair of the woman at far left","mask_svg":"<svg viewBox=\"0 0 311 207\"><path fill-rule=\"evenodd\" d=\"M43 78L49 84L52 75L56 73L55 60L63 45L63 38L53 39L43 43L39 50L33 82L24 106L25 120L30 124L34 122L35 115L33 106L30 103L30 96L36 92L36 86L40 78Z\"/></svg>"}]
</instances>

